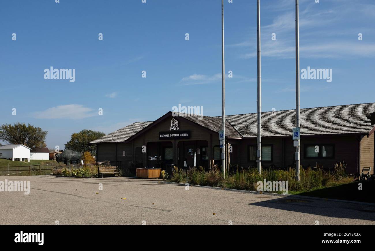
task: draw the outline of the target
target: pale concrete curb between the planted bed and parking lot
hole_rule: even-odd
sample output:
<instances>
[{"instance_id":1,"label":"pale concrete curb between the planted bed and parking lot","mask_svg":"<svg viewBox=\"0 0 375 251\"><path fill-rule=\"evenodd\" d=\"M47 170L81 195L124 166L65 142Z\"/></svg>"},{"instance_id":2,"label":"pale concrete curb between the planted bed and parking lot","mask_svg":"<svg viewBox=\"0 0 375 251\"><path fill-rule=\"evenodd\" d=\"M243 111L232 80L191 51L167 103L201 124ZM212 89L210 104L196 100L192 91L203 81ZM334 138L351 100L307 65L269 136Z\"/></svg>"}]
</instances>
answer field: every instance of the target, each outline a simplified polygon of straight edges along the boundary
<instances>
[{"instance_id":1,"label":"pale concrete curb between the planted bed and parking lot","mask_svg":"<svg viewBox=\"0 0 375 251\"><path fill-rule=\"evenodd\" d=\"M176 184L176 185L185 186L185 183L168 182L168 181L163 181L163 182L168 183L168 184ZM240 192L240 193L264 194L264 195L275 196L275 197L294 197L294 198L300 198L300 199L313 199L313 200L324 200L324 201L328 200L328 201L334 201L334 202L345 202L345 203L353 203L353 204L359 204L359 205L375 206L375 203L359 202L359 201L353 201L353 200L328 199L328 198L303 196L303 195L295 195L295 194L279 194L279 193L267 193L267 192L260 193L258 191L246 191L246 190L239 190L239 189L232 189L232 188L222 188L222 187L208 187L208 186L192 185L192 184L189 184L189 186L205 187L205 188L209 188L209 189L234 191L234 192Z\"/></svg>"}]
</instances>

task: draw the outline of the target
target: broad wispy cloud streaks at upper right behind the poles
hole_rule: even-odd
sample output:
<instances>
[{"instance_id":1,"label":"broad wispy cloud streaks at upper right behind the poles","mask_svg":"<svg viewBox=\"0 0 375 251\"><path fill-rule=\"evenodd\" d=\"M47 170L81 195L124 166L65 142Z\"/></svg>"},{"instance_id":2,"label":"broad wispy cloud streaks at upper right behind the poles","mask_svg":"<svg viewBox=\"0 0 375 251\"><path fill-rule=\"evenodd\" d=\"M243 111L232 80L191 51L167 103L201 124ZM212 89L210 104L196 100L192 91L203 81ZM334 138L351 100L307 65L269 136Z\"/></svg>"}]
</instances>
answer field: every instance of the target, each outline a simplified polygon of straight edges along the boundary
<instances>
[{"instance_id":1,"label":"broad wispy cloud streaks at upper right behind the poles","mask_svg":"<svg viewBox=\"0 0 375 251\"><path fill-rule=\"evenodd\" d=\"M334 0L336 1L336 0ZM275 12L276 16L270 24L261 27L262 30L262 56L273 58L295 57L295 12L294 4L290 0L278 1L276 5L265 6ZM374 20L375 4L358 4L353 8L349 0L338 1L335 8L322 9L314 1L300 1L300 42L301 56L304 58L348 58L348 57L374 57L375 43L358 41L357 34L362 32L372 34L374 28L348 27L347 17L366 16ZM346 2L346 3L344 3ZM348 31L350 33L348 34ZM276 40L271 40L271 34L276 33ZM340 36L353 36L353 40L346 40ZM324 36L324 43L317 43L316 37ZM327 37L330 37L327 42ZM240 58L257 57L256 37L249 36L249 40L235 43L229 48L243 47L247 52L240 54Z\"/></svg>"}]
</instances>

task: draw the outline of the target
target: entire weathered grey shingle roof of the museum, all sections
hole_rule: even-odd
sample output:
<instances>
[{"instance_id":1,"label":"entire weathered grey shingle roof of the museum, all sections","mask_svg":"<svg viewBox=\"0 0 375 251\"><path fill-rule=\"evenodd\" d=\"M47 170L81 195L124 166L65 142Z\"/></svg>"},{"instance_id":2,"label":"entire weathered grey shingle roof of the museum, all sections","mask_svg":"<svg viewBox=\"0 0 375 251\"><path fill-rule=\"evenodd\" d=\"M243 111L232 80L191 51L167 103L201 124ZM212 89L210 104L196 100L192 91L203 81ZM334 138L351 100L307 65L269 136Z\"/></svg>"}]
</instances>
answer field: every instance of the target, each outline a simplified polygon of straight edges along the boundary
<instances>
[{"instance_id":1,"label":"entire weathered grey shingle roof of the museum, all sections","mask_svg":"<svg viewBox=\"0 0 375 251\"><path fill-rule=\"evenodd\" d=\"M371 120L367 118L374 112L375 103L301 109L301 135L366 134L374 127L371 125ZM196 116L178 115L209 130L216 132L221 130L221 117L203 116L202 119L198 119L199 117ZM257 113L226 115L225 118L226 137L257 137ZM153 121L136 122L90 143L124 142L151 123ZM275 115L273 112L262 112L262 137L291 136L294 127L296 127L294 109L276 111Z\"/></svg>"}]
</instances>

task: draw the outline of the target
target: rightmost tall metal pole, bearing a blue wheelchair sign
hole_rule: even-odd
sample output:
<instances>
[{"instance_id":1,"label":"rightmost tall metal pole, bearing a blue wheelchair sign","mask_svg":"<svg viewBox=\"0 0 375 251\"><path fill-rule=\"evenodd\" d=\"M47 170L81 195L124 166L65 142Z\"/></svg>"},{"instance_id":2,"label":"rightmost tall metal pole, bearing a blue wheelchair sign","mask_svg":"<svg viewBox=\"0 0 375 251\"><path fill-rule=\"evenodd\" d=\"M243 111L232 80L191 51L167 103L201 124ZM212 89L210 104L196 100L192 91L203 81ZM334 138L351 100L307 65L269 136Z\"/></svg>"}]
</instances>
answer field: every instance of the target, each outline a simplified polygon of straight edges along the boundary
<instances>
[{"instance_id":1,"label":"rightmost tall metal pole, bearing a blue wheelchair sign","mask_svg":"<svg viewBox=\"0 0 375 251\"><path fill-rule=\"evenodd\" d=\"M296 127L300 127L300 23L299 0L296 0ZM300 181L300 146L296 146L296 180Z\"/></svg>"}]
</instances>

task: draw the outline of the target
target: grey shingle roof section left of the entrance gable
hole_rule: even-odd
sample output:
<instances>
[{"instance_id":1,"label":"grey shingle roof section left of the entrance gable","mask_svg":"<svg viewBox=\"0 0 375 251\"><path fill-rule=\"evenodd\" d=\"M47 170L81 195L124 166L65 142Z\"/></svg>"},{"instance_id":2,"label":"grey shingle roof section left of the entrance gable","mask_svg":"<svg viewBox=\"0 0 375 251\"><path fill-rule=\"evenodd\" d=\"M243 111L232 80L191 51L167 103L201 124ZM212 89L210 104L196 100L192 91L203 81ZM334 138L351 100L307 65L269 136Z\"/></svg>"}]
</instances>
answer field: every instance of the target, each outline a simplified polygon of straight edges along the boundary
<instances>
[{"instance_id":1,"label":"grey shingle roof section left of the entrance gable","mask_svg":"<svg viewBox=\"0 0 375 251\"><path fill-rule=\"evenodd\" d=\"M106 142L123 142L129 139L134 134L138 133L138 131L142 130L143 128L151 124L152 122L153 121L135 122L133 124L130 124L129 126L126 126L117 131L114 131L113 133L100 137L99 139L96 139L90 142L90 144L106 143Z\"/></svg>"}]
</instances>

